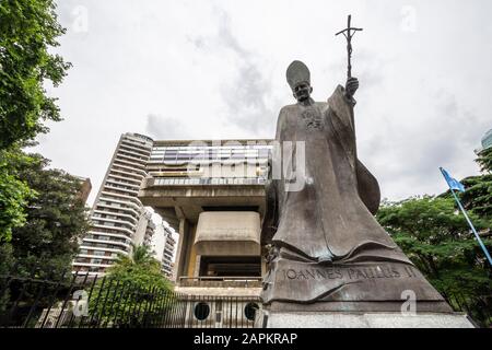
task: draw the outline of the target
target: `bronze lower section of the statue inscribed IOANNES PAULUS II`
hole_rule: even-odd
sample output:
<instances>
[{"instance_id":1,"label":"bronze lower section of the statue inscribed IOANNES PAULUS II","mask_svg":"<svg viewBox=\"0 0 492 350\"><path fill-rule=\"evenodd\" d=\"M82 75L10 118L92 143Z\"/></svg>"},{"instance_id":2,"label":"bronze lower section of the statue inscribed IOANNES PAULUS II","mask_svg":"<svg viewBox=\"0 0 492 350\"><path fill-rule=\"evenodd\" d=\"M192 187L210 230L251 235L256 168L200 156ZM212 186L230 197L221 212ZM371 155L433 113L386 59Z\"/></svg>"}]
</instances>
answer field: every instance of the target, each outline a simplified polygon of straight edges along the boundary
<instances>
[{"instance_id":1,"label":"bronze lower section of the statue inscribed IOANNES PAULUS II","mask_svg":"<svg viewBox=\"0 0 492 350\"><path fill-rule=\"evenodd\" d=\"M418 269L401 262L316 264L280 257L271 264L261 296L279 305L272 311L399 312L407 295L421 307L429 305L421 311L452 312Z\"/></svg>"}]
</instances>

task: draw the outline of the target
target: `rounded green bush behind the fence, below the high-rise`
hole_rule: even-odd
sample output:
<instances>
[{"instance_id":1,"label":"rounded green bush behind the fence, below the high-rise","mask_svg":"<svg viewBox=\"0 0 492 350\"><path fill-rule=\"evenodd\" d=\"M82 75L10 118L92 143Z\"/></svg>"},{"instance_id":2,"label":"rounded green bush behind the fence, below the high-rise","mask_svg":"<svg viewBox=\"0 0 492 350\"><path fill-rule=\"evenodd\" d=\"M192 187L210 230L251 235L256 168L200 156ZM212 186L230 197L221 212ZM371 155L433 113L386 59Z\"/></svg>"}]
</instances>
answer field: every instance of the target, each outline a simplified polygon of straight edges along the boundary
<instances>
[{"instance_id":1,"label":"rounded green bush behind the fence, below the high-rise","mask_svg":"<svg viewBox=\"0 0 492 350\"><path fill-rule=\"evenodd\" d=\"M103 324L136 327L152 317L162 317L175 301L172 283L163 276L160 262L152 257L149 247L133 246L130 257L120 256L108 270L106 278L97 281L90 300L90 313ZM114 300L108 307L102 301ZM152 307L151 304L157 304Z\"/></svg>"}]
</instances>

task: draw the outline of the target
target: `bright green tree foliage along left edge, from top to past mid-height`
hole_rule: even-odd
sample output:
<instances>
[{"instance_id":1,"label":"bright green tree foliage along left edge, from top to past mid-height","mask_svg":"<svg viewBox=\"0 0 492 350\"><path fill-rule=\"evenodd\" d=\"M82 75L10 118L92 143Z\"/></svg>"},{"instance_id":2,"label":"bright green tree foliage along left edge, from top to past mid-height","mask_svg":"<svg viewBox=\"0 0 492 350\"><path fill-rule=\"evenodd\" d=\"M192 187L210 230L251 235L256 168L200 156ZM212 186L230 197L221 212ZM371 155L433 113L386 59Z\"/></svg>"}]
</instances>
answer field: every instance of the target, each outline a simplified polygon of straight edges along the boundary
<instances>
[{"instance_id":1,"label":"bright green tree foliage along left edge, from top to past mid-height","mask_svg":"<svg viewBox=\"0 0 492 350\"><path fill-rule=\"evenodd\" d=\"M61 83L71 66L48 52L63 33L52 0L0 2L0 244L25 223L25 206L35 194L17 177L19 162L30 161L20 149L47 132L44 120L60 120L44 84Z\"/></svg>"}]
</instances>

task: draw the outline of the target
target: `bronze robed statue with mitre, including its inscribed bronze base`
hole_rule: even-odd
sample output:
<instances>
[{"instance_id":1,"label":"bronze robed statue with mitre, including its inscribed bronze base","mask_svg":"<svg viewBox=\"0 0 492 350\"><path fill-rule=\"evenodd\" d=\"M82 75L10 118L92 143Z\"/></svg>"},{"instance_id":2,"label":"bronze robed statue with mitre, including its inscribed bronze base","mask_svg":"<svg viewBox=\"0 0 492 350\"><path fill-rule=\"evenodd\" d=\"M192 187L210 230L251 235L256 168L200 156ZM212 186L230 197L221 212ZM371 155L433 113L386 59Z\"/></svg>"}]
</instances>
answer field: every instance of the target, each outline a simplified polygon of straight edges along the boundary
<instances>
[{"instance_id":1,"label":"bronze robed statue with mitre, including its inscribed bronze base","mask_svg":"<svg viewBox=\"0 0 492 350\"><path fill-rule=\"evenodd\" d=\"M263 302L344 302L343 307L355 303L351 307L360 310L358 302L398 302L402 291L412 290L419 300L441 305L442 296L374 218L379 187L356 156L358 79L349 78L328 102L311 97L311 74L303 62L289 66L286 80L297 103L280 110L276 140L280 147L294 142L293 153L303 144L305 162L283 154L285 174L267 185L261 241L271 248ZM291 190L289 179L298 182L300 174L303 186ZM323 310L335 307L327 305Z\"/></svg>"}]
</instances>

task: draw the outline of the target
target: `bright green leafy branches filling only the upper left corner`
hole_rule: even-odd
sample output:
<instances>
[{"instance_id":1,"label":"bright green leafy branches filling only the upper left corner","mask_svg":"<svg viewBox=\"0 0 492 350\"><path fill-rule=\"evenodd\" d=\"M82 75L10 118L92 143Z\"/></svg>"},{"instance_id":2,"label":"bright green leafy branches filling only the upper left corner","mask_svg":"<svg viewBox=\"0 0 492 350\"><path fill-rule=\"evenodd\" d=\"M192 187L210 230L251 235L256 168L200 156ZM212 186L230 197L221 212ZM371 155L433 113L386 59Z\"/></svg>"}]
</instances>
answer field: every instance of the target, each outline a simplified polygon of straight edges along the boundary
<instances>
[{"instance_id":1,"label":"bright green leafy branches filling only the upper left corner","mask_svg":"<svg viewBox=\"0 0 492 350\"><path fill-rule=\"evenodd\" d=\"M52 0L0 2L0 150L46 132L43 120L60 120L44 89L47 81L58 85L71 66L49 54L65 33L55 8Z\"/></svg>"}]
</instances>

